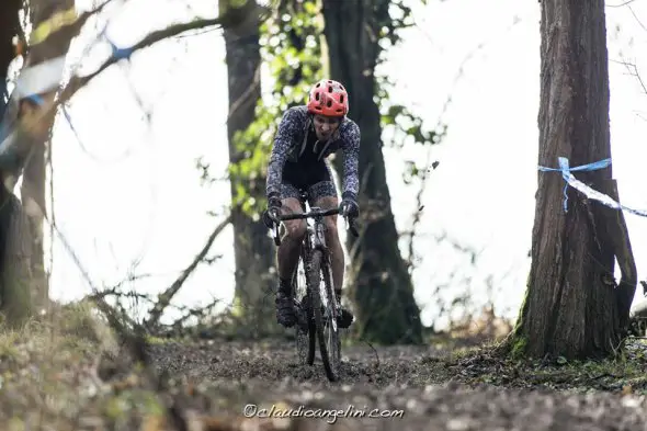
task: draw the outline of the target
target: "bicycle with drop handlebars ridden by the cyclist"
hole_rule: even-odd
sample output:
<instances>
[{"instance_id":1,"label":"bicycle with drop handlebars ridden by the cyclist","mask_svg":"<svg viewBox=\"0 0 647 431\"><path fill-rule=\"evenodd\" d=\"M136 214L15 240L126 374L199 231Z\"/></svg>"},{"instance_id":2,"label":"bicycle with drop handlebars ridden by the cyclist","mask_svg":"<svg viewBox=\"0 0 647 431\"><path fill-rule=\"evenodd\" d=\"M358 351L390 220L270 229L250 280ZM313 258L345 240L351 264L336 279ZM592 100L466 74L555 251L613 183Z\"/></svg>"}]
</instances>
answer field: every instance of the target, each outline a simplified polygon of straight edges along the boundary
<instances>
[{"instance_id":1,"label":"bicycle with drop handlebars ridden by the cyclist","mask_svg":"<svg viewBox=\"0 0 647 431\"><path fill-rule=\"evenodd\" d=\"M302 193L302 214L282 215L280 219L314 219L308 224L306 236L302 242L299 262L292 274L292 294L297 316L296 349L303 364L313 365L315 362L316 341L319 341L321 362L326 376L330 382L337 382L341 368L341 340L337 318L340 315L341 305L334 297L332 285L332 271L330 265L330 252L326 246L326 225L324 217L339 215L339 208L321 209L311 207L306 212L307 193ZM345 217L344 217L345 218ZM345 218L349 231L359 237L352 220ZM274 243L281 245L279 224L274 225ZM298 280L298 273L303 271L306 282ZM321 283L324 280L324 283ZM304 286L305 284L305 286ZM306 351L307 345L307 351Z\"/></svg>"}]
</instances>

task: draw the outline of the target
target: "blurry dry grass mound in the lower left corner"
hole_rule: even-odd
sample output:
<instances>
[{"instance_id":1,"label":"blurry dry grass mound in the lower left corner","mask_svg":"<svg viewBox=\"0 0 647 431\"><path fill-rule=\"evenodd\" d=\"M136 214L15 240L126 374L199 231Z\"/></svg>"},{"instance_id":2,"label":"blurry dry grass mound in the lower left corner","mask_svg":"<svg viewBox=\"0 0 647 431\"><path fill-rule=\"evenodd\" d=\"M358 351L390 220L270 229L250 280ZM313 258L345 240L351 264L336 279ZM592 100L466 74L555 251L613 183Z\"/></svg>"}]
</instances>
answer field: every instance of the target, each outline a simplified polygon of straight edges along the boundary
<instances>
[{"instance_id":1,"label":"blurry dry grass mound in the lower left corner","mask_svg":"<svg viewBox=\"0 0 647 431\"><path fill-rule=\"evenodd\" d=\"M129 389L135 374L125 383L100 376L116 353L112 331L88 304L56 307L20 330L0 327L0 423L16 431L133 429L124 428L132 417L159 416L155 394Z\"/></svg>"}]
</instances>

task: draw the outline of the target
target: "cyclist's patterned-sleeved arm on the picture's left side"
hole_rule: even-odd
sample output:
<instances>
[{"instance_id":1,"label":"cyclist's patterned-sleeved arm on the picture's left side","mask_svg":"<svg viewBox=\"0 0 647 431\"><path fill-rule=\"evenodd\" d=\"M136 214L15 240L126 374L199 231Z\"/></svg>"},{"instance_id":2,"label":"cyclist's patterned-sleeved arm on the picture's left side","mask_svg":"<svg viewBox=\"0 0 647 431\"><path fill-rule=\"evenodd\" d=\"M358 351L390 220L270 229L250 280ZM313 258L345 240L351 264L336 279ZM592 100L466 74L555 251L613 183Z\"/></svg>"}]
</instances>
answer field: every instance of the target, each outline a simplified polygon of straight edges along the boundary
<instances>
[{"instance_id":1,"label":"cyclist's patterned-sleeved arm on the picture's left side","mask_svg":"<svg viewBox=\"0 0 647 431\"><path fill-rule=\"evenodd\" d=\"M287 160L287 151L302 123L300 115L296 110L291 109L283 114L276 136L274 137L270 162L268 163L268 179L265 184L268 196L281 193L281 179L283 167Z\"/></svg>"}]
</instances>

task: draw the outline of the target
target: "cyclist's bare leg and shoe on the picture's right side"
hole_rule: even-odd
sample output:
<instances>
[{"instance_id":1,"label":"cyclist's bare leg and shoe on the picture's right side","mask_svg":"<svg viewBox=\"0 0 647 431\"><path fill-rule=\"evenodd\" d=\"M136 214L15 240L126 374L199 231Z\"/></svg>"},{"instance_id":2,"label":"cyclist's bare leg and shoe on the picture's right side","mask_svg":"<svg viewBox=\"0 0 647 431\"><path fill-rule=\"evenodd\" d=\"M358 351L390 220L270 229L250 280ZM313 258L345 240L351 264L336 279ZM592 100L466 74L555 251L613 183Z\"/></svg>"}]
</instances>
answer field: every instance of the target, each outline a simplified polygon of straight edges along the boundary
<instances>
[{"instance_id":1,"label":"cyclist's bare leg and shoe on the picture's right side","mask_svg":"<svg viewBox=\"0 0 647 431\"><path fill-rule=\"evenodd\" d=\"M336 208L339 206L337 197L337 190L332 181L322 181L313 185L309 190L314 205L324 209ZM341 240L339 239L339 231L337 228L337 216L329 216L324 218L326 225L326 245L330 251L330 270L332 272L332 285L337 299L341 302L341 290L343 286L344 273L344 256ZM353 315L347 309L342 308L339 319L341 328L348 328L353 321Z\"/></svg>"}]
</instances>

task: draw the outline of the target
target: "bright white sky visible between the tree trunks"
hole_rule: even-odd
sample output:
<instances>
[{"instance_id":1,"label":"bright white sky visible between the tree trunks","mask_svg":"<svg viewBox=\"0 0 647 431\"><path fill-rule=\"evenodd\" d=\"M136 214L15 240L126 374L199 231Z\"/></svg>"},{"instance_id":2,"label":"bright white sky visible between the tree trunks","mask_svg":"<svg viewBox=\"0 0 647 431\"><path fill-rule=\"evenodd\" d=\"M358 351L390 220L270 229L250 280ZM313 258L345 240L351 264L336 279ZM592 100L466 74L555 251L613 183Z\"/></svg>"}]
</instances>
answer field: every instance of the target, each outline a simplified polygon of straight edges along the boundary
<instances>
[{"instance_id":1,"label":"bright white sky visible between the tree trunks","mask_svg":"<svg viewBox=\"0 0 647 431\"><path fill-rule=\"evenodd\" d=\"M189 20L194 13L213 16L217 13L213 3L129 0L107 34L117 46L129 45L170 21ZM417 240L422 261L413 274L416 297L423 308L423 321L429 324L436 313L435 286L453 283L443 291L450 298L465 292L463 277L472 277L468 292L481 302L486 279L491 276L497 307L515 316L530 265L526 253L537 175L540 3L429 3L415 7L418 27L405 33L406 41L389 53L389 63L382 68L397 80L394 102L409 105L429 126L438 122L452 95L443 118L449 123L449 136L433 149L432 160L441 163L424 195ZM80 7L87 9L86 4ZM635 1L631 7L647 22L645 2ZM627 7L608 8L606 12L610 58L620 60L622 52L640 68L647 30ZM512 26L515 18L520 21ZM70 61L86 43L75 43ZM481 43L486 45L465 64L454 87L465 57ZM83 69L93 69L109 49L105 43L95 47ZM612 61L610 72L614 177L625 205L647 208L640 166L647 156L643 143L647 120L637 114L647 106L647 95L624 66ZM110 68L75 98L70 113L88 152L69 124L58 120L55 217L95 284L123 280L133 261L140 259L136 273L154 276L132 286L138 292L160 292L191 262L219 223L206 213L222 212L228 204L228 183L202 186L195 159L203 156L212 162L215 175L222 175L227 166L226 73L222 32L163 42L136 54L130 64ZM151 113L150 123L134 92ZM423 157L420 149L385 149L393 208L402 230L410 226L417 191L402 185L404 159ZM631 214L626 218L638 274L644 279L647 245L639 238L647 234L647 220ZM464 246L484 250L475 266L464 253L435 241L434 236L443 231ZM227 256L213 266L200 266L175 304L231 299L231 243L229 228L212 251ZM77 265L57 241L52 295L69 300L88 292ZM638 287L636 299L640 297Z\"/></svg>"}]
</instances>

